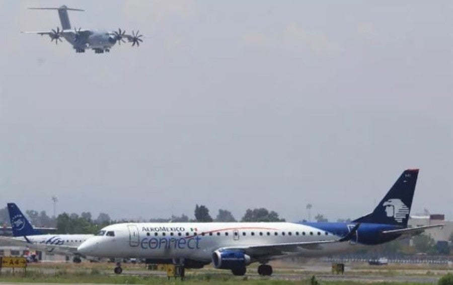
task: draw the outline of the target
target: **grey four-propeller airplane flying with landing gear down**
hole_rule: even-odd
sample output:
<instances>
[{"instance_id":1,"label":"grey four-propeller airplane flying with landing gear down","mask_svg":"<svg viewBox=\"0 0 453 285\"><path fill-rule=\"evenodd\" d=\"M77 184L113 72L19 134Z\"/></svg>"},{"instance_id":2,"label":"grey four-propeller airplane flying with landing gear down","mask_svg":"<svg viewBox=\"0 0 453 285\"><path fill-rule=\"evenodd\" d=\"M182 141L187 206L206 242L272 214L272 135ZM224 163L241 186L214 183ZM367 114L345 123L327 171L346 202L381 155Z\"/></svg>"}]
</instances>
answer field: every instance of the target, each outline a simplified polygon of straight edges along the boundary
<instances>
[{"instance_id":1,"label":"grey four-propeller airplane flying with landing gear down","mask_svg":"<svg viewBox=\"0 0 453 285\"><path fill-rule=\"evenodd\" d=\"M61 27L52 29L50 31L37 31L37 32L24 32L29 34L38 34L38 35L48 35L50 41L55 41L55 44L58 44L58 41L62 42L61 38L64 38L68 43L72 45L75 49L75 52L85 52L86 49L93 49L95 53L109 52L110 48L114 46L117 42L120 45L121 42L125 43L124 39L127 39L128 42L132 43L132 46L139 46L143 40L141 37L143 35L139 34L139 31L135 33L132 31L132 34L126 34L126 31L118 29L118 31L93 31L86 30L82 28L71 28L69 22L69 17L67 11L84 11L81 9L72 9L67 8L66 6L61 6L60 8L29 8L32 10L57 10L58 16L60 18Z\"/></svg>"}]
</instances>

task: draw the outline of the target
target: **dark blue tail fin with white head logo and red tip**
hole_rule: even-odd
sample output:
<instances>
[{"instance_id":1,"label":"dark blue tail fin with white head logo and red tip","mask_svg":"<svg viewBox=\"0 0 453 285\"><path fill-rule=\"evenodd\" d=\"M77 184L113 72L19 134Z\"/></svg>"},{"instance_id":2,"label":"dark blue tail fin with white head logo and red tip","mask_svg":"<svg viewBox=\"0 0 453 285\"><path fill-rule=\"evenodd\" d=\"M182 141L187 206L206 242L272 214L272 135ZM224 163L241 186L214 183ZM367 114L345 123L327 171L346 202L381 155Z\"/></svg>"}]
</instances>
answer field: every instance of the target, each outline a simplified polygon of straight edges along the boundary
<instances>
[{"instance_id":1,"label":"dark blue tail fin with white head logo and red tip","mask_svg":"<svg viewBox=\"0 0 453 285\"><path fill-rule=\"evenodd\" d=\"M407 227L417 177L418 169L405 170L374 211L354 222Z\"/></svg>"}]
</instances>

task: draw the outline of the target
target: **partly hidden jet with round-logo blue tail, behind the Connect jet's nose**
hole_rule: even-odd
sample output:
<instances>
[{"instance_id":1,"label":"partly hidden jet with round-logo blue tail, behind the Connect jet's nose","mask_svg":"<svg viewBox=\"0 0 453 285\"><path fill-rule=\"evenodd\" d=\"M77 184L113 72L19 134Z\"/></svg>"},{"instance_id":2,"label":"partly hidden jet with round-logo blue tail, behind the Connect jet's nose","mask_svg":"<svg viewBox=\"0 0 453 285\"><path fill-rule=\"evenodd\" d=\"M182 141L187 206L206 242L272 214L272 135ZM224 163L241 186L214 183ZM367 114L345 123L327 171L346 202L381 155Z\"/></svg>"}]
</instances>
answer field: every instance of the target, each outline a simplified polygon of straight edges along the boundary
<instances>
[{"instance_id":1,"label":"partly hidden jet with round-logo blue tail, behind the Connect jet's nose","mask_svg":"<svg viewBox=\"0 0 453 285\"><path fill-rule=\"evenodd\" d=\"M8 211L11 220L12 237L0 237L0 240L18 246L27 246L33 250L48 253L71 255L72 261L81 262L81 255L77 248L93 235L43 235L39 230L33 229L30 222L15 203L8 203Z\"/></svg>"}]
</instances>

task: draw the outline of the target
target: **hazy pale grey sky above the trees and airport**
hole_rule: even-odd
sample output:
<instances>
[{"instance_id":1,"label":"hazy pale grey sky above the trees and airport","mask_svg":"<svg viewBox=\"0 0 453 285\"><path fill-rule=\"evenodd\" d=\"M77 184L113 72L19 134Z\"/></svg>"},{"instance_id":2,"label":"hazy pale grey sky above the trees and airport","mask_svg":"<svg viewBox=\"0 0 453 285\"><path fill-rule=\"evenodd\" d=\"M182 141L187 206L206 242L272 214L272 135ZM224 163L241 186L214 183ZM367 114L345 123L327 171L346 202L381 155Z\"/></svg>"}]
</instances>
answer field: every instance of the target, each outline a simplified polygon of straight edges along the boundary
<instances>
[{"instance_id":1,"label":"hazy pale grey sky above the trees and airport","mask_svg":"<svg viewBox=\"0 0 453 285\"><path fill-rule=\"evenodd\" d=\"M140 29L77 54L21 34ZM17 1L0 7L0 202L113 218L371 211L420 168L453 209L450 1ZM4 205L0 205L3 207Z\"/></svg>"}]
</instances>

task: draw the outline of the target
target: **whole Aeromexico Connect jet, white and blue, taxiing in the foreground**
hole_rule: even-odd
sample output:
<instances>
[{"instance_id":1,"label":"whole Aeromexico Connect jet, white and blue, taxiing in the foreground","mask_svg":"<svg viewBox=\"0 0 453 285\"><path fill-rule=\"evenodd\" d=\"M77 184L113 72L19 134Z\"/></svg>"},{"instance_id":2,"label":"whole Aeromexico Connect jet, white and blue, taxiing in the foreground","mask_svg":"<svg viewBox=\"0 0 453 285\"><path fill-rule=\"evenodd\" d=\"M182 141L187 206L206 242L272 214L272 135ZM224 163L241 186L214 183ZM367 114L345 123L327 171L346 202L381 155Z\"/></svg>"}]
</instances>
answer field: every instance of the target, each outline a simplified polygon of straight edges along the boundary
<instances>
[{"instance_id":1,"label":"whole Aeromexico Connect jet, white and blue, taxiing in the foreground","mask_svg":"<svg viewBox=\"0 0 453 285\"><path fill-rule=\"evenodd\" d=\"M418 169L398 178L372 213L351 223L125 223L103 228L79 252L98 257L148 258L244 275L259 262L260 275L271 275L270 260L290 256L323 256L386 243L421 233L432 225L407 228ZM118 265L115 273L121 273Z\"/></svg>"}]
</instances>

